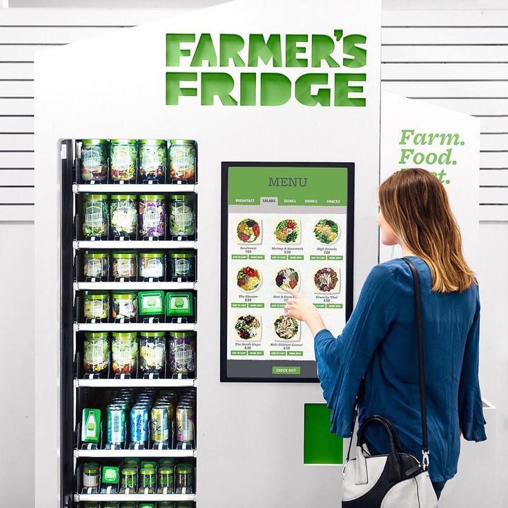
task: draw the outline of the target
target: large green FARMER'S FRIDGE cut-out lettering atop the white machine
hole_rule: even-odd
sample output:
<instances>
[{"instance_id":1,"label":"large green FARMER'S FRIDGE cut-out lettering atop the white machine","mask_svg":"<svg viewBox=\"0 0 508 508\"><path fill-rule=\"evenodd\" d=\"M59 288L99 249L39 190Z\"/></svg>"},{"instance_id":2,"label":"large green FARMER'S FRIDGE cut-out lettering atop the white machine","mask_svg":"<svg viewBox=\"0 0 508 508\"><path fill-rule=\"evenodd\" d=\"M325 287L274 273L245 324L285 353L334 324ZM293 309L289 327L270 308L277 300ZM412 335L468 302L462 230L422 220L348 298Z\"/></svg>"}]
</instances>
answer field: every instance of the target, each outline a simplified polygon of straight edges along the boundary
<instances>
[{"instance_id":1,"label":"large green FARMER'S FRIDGE cut-out lettering atop the white machine","mask_svg":"<svg viewBox=\"0 0 508 508\"><path fill-rule=\"evenodd\" d=\"M304 106L363 107L366 63L367 37L343 30L166 34L166 104L195 97L202 106L282 106L294 97Z\"/></svg>"}]
</instances>

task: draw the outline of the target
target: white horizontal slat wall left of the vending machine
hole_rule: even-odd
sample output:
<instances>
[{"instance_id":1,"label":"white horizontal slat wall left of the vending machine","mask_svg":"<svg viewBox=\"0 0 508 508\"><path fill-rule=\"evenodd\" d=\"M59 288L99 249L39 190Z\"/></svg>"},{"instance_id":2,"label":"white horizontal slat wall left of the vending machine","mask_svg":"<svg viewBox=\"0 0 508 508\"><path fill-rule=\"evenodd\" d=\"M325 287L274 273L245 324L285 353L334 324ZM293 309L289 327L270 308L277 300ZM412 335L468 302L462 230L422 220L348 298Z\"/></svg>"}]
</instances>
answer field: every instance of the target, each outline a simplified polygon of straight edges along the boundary
<instances>
[{"instance_id":1,"label":"white horizontal slat wall left of the vending machine","mask_svg":"<svg viewBox=\"0 0 508 508\"><path fill-rule=\"evenodd\" d=\"M178 12L0 9L0 221L34 219L35 52Z\"/></svg>"}]
</instances>

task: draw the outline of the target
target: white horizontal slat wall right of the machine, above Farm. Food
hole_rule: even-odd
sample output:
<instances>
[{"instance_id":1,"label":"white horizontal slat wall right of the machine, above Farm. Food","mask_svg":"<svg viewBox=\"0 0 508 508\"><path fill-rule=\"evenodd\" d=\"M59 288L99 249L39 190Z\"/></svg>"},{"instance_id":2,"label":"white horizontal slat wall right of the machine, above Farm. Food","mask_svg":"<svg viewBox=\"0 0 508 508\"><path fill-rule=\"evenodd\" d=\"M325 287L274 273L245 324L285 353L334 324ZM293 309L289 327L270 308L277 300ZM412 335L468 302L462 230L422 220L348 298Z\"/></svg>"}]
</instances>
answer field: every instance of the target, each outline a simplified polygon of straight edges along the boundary
<instances>
[{"instance_id":1,"label":"white horizontal slat wall right of the machine, above Farm. Food","mask_svg":"<svg viewBox=\"0 0 508 508\"><path fill-rule=\"evenodd\" d=\"M480 220L508 221L508 10L384 11L382 89L480 118Z\"/></svg>"}]
</instances>

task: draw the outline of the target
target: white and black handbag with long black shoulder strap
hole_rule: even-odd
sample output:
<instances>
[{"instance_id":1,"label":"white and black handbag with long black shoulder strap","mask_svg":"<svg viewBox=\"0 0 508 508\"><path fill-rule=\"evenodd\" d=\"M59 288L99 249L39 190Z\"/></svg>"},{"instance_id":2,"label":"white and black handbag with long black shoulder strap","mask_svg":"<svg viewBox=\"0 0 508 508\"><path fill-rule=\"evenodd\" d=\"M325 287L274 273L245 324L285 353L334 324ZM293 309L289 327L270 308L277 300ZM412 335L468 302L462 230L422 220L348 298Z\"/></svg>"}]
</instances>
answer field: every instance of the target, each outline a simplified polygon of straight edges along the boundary
<instances>
[{"instance_id":1,"label":"white and black handbag with long black shoulder strap","mask_svg":"<svg viewBox=\"0 0 508 508\"><path fill-rule=\"evenodd\" d=\"M344 465L342 508L436 508L438 498L429 477L429 445L425 404L425 371L423 356L422 304L420 279L413 263L402 258L411 269L415 291L415 314L418 330L418 366L420 369L420 410L422 413L422 461L404 453L397 432L387 418L369 416L358 429L356 456L350 459L351 442ZM353 427L358 416L358 396ZM365 429L381 424L390 440L387 455L373 456L364 450ZM352 441L352 440L351 440Z\"/></svg>"}]
</instances>

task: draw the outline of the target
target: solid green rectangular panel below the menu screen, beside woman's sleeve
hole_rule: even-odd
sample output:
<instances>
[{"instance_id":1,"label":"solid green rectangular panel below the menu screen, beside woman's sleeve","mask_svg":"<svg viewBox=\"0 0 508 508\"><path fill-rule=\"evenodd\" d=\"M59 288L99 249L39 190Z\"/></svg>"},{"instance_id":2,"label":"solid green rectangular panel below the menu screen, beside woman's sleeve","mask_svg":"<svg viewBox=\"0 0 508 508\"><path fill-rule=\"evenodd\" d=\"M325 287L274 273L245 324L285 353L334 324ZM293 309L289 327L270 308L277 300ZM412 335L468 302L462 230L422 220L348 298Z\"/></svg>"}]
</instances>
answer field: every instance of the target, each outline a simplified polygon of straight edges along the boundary
<instances>
[{"instance_id":1,"label":"solid green rectangular panel below the menu screen, beside woman's sleeve","mask_svg":"<svg viewBox=\"0 0 508 508\"><path fill-rule=\"evenodd\" d=\"M304 464L342 464L342 438L330 432L326 404L304 404Z\"/></svg>"}]
</instances>

